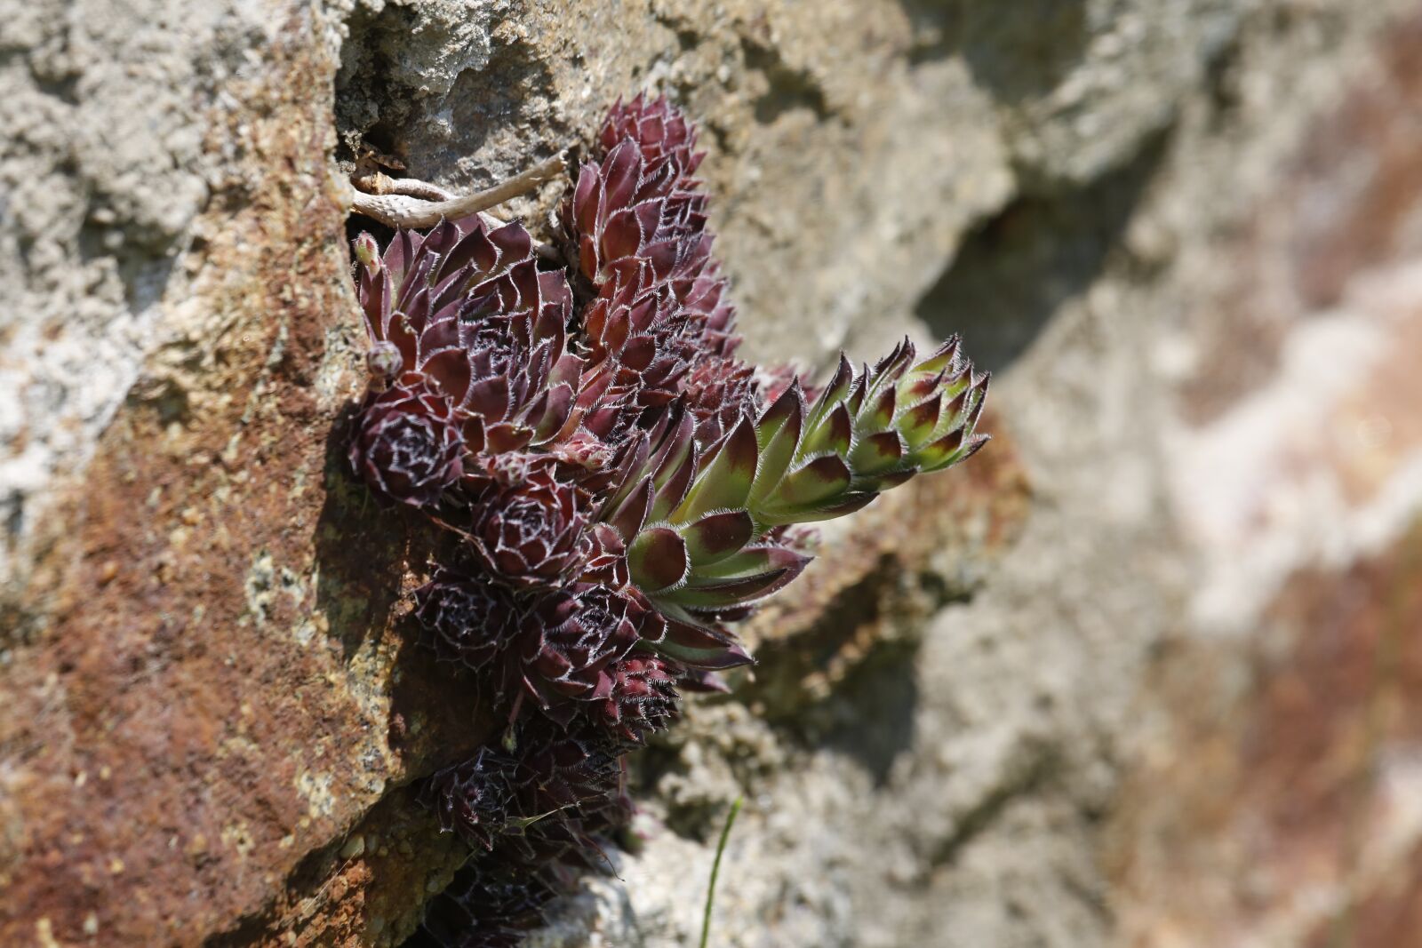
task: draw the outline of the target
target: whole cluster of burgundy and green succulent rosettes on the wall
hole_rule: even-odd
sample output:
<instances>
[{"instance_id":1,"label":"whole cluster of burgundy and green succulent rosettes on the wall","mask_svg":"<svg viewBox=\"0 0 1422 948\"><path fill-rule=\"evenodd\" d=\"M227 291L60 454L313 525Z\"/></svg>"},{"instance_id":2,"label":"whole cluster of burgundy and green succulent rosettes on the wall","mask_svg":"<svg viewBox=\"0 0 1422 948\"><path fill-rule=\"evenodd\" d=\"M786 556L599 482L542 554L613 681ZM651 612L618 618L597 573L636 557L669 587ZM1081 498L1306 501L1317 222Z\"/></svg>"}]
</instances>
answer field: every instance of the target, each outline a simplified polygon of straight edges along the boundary
<instances>
[{"instance_id":1,"label":"whole cluster of burgundy and green succulent rosettes on the wall","mask_svg":"<svg viewBox=\"0 0 1422 948\"><path fill-rule=\"evenodd\" d=\"M728 623L805 569L792 524L987 439L988 379L957 340L842 357L822 387L737 358L702 152L664 99L616 105L593 158L563 208L566 269L478 216L384 253L356 240L371 384L350 462L456 539L415 615L512 722L425 799L522 864L587 851L624 812L623 752L751 661Z\"/></svg>"}]
</instances>

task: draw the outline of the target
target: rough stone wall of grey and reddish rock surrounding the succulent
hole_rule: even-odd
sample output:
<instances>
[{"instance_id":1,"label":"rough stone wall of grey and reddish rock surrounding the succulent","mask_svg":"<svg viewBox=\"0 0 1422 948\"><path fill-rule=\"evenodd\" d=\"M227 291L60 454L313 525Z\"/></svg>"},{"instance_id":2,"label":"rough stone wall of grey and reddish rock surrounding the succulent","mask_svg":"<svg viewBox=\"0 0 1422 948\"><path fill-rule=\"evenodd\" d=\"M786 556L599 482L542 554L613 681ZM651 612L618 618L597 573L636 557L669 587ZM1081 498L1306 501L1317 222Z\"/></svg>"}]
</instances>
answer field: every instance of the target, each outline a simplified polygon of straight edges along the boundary
<instances>
[{"instance_id":1,"label":"rough stone wall of grey and reddish rock surrounding the succulent","mask_svg":"<svg viewBox=\"0 0 1422 948\"><path fill-rule=\"evenodd\" d=\"M714 944L1416 931L1411 0L10 7L0 942L412 931L461 851L411 783L488 725L338 462L344 178L486 185L640 90L752 352L963 331L998 438L826 532L530 944L693 944L738 793Z\"/></svg>"}]
</instances>

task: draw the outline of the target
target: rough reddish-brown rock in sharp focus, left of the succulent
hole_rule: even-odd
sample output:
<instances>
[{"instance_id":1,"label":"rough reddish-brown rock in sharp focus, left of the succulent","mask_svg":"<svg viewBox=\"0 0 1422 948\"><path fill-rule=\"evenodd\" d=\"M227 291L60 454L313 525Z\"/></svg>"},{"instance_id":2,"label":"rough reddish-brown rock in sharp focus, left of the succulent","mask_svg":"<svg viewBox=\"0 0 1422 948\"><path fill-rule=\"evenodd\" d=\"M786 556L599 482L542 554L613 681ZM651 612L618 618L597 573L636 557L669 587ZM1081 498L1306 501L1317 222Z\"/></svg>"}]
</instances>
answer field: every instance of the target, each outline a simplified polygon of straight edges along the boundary
<instances>
[{"instance_id":1,"label":"rough reddish-brown rock in sharp focus, left of the succulent","mask_svg":"<svg viewBox=\"0 0 1422 948\"><path fill-rule=\"evenodd\" d=\"M33 587L51 618L0 685L4 944L235 928L432 746L481 738L395 620L410 523L340 470L354 296L306 94L333 64L300 24L270 55L260 114L213 131L262 172L195 264L210 364L105 432Z\"/></svg>"}]
</instances>

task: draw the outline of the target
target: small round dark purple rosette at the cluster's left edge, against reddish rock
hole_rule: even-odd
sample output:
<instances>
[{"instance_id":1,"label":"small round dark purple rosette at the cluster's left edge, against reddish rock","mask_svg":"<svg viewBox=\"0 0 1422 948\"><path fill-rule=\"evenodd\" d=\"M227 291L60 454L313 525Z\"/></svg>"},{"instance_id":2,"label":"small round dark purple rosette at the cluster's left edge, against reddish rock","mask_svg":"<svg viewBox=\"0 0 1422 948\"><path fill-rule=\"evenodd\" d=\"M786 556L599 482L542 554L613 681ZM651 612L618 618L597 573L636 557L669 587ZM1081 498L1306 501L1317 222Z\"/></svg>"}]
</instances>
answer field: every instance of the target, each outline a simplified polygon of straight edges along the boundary
<instances>
[{"instance_id":1,"label":"small round dark purple rosette at the cluster's left edge, against reddish rock","mask_svg":"<svg viewBox=\"0 0 1422 948\"><path fill-rule=\"evenodd\" d=\"M464 451L454 404L412 378L370 394L348 458L377 495L422 507L437 503L464 475Z\"/></svg>"}]
</instances>

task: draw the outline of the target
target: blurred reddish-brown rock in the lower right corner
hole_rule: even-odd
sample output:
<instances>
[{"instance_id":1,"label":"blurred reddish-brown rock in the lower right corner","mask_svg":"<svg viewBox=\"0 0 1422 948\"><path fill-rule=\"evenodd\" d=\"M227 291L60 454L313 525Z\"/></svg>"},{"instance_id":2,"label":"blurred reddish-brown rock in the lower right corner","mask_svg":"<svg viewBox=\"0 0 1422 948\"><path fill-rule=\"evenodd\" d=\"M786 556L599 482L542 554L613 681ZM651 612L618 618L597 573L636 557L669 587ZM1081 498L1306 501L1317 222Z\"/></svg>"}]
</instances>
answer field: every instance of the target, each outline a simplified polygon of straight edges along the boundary
<instances>
[{"instance_id":1,"label":"blurred reddish-brown rock in the lower right corner","mask_svg":"<svg viewBox=\"0 0 1422 948\"><path fill-rule=\"evenodd\" d=\"M1229 645L1165 657L1155 688L1172 721L1116 830L1126 944L1408 944L1419 628L1422 523L1352 569L1290 581L1244 668Z\"/></svg>"}]
</instances>

